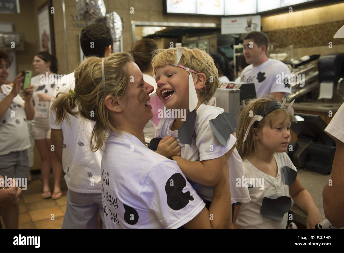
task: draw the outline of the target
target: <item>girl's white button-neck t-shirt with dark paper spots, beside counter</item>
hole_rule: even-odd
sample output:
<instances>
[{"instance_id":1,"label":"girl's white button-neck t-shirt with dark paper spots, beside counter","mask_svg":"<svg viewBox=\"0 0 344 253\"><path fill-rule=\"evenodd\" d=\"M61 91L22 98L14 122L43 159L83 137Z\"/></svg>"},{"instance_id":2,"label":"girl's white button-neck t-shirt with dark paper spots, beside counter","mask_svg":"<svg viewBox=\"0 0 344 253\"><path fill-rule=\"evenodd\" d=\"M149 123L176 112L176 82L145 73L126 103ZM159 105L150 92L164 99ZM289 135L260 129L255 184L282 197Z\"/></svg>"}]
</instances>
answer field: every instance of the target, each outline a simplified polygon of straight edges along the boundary
<instances>
[{"instance_id":1,"label":"girl's white button-neck t-shirt with dark paper spots, beside counter","mask_svg":"<svg viewBox=\"0 0 344 253\"><path fill-rule=\"evenodd\" d=\"M261 207L263 199L272 197L281 197L289 195L289 186L286 183L284 177L283 167L288 166L294 171L297 171L292 161L288 157L286 152L273 154L277 163L277 177L272 177L260 171L254 167L247 159L243 160L245 178L252 179L252 185L248 190L251 196L251 202L241 204L239 214L236 220L236 224L241 229L286 229L288 222L288 211L284 213L282 220L272 219L261 214ZM255 179L255 181L253 180ZM258 181L256 180L258 179ZM264 183L263 183L264 179ZM259 181L260 180L260 181ZM251 182L251 181L250 181ZM258 182L258 185L257 185ZM238 185L243 185L242 180L237 182ZM256 184L256 185L253 185ZM261 186L259 186L261 183ZM261 189L263 188L263 189ZM291 202L290 202L291 203ZM268 207L271 212L276 213L276 206L272 205Z\"/></svg>"}]
</instances>

